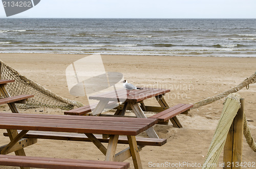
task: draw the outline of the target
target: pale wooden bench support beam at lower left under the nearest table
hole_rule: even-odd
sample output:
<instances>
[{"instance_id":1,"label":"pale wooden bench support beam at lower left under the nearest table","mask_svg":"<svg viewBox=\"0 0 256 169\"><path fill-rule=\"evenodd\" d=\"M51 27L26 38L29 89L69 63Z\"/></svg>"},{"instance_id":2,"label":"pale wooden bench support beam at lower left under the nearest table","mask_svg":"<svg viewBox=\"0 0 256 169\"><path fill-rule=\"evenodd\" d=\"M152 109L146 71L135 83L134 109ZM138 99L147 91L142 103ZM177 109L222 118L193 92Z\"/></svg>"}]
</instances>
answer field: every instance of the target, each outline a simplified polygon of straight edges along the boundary
<instances>
[{"instance_id":1,"label":"pale wooden bench support beam at lower left under the nearest table","mask_svg":"<svg viewBox=\"0 0 256 169\"><path fill-rule=\"evenodd\" d=\"M23 148L26 148L34 143L37 142L37 138L22 138L20 139L9 151L7 151L6 154L9 154L9 153L12 153L12 152L15 152L17 150L20 150L20 149L23 149ZM1 146L0 147L0 152L7 146L4 145L4 146Z\"/></svg>"}]
</instances>

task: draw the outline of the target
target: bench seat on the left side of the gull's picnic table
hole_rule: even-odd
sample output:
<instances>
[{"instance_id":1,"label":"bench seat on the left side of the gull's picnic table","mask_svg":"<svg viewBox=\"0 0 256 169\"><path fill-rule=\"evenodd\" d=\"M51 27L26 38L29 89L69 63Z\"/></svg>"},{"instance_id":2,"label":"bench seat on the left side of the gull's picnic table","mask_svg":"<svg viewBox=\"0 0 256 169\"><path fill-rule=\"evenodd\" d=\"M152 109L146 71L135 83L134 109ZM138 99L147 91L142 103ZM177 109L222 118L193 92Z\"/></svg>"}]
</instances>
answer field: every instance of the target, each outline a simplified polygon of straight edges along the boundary
<instances>
[{"instance_id":1,"label":"bench seat on the left side of the gull's picnic table","mask_svg":"<svg viewBox=\"0 0 256 169\"><path fill-rule=\"evenodd\" d=\"M106 109L112 108L114 105L118 106L117 103L118 102L110 102L106 106ZM86 106L82 106L82 107L78 107L76 109L65 111L64 114L66 114L66 115L86 115L87 113L93 111L97 105L98 105L98 103L90 104L90 105L86 105Z\"/></svg>"}]
</instances>

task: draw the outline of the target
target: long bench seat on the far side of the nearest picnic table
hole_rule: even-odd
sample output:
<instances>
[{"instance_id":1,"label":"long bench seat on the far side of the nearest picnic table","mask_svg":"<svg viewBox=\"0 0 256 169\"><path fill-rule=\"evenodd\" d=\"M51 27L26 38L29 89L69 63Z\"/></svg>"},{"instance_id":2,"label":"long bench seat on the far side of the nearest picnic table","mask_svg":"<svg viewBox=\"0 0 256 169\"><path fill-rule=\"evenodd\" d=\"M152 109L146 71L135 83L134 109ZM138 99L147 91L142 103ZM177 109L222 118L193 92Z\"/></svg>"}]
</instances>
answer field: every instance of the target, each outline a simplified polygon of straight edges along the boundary
<instances>
[{"instance_id":1,"label":"long bench seat on the far side of the nearest picnic table","mask_svg":"<svg viewBox=\"0 0 256 169\"><path fill-rule=\"evenodd\" d=\"M4 133L8 136L8 133ZM100 142L109 142L109 139L102 138L102 134L95 134ZM66 132L45 132L45 131L29 131L24 138L40 138L40 139L56 139L70 141L90 141L90 139L82 133L66 133ZM162 146L166 143L166 139L136 137L137 144L140 146ZM128 144L126 136L119 136L118 143Z\"/></svg>"}]
</instances>

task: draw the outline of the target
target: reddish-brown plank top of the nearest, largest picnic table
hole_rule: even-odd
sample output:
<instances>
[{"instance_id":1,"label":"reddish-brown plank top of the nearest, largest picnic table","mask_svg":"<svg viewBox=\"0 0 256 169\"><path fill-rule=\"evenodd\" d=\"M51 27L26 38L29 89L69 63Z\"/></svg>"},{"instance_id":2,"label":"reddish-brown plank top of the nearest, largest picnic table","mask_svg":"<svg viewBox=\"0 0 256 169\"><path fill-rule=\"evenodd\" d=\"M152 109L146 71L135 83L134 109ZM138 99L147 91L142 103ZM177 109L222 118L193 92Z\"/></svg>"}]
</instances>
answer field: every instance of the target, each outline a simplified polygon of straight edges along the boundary
<instances>
[{"instance_id":1,"label":"reddish-brown plank top of the nearest, largest picnic table","mask_svg":"<svg viewBox=\"0 0 256 169\"><path fill-rule=\"evenodd\" d=\"M154 118L0 113L0 129L138 135L157 124Z\"/></svg>"}]
</instances>

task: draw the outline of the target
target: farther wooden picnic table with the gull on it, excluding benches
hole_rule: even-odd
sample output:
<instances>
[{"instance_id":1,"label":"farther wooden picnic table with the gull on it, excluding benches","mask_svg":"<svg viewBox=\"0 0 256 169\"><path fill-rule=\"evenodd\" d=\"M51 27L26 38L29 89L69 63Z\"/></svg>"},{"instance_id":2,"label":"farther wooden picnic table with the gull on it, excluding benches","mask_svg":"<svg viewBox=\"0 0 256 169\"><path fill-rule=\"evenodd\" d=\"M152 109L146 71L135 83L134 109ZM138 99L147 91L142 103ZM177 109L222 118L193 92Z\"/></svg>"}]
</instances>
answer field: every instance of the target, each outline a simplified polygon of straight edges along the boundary
<instances>
[{"instance_id":1,"label":"farther wooden picnic table with the gull on it, excluding benches","mask_svg":"<svg viewBox=\"0 0 256 169\"><path fill-rule=\"evenodd\" d=\"M132 90L130 94L127 95L126 90L120 89L90 96L89 99L99 101L99 103L92 112L93 115L102 113L110 102L118 101L122 102L122 104L116 107L117 111L115 112L115 115L124 115L127 109L131 109L134 111L137 117L146 118L143 111L161 112L169 108L163 97L163 95L169 91L169 89L156 89L145 87L143 89ZM145 106L143 101L153 97L156 98L156 100L160 104L160 107ZM149 137L159 138L153 128L146 130L146 133Z\"/></svg>"}]
</instances>

